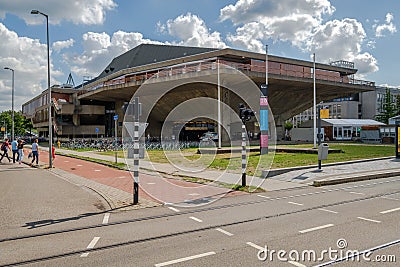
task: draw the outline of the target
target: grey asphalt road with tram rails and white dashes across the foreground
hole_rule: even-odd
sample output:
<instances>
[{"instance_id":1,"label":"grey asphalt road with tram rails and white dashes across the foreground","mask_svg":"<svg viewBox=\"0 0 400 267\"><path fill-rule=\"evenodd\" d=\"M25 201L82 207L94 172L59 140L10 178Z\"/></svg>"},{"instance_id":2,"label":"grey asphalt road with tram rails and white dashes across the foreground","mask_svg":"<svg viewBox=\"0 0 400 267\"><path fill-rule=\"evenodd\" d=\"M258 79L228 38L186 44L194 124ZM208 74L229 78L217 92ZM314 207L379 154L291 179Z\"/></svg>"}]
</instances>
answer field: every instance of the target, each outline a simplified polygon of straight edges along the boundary
<instances>
[{"instance_id":1,"label":"grey asphalt road with tram rails and white dashes across the foreground","mask_svg":"<svg viewBox=\"0 0 400 267\"><path fill-rule=\"evenodd\" d=\"M2 169L0 193L0 266L400 261L400 177L241 195L197 208L103 211L91 192L45 170ZM342 261L351 254L358 257Z\"/></svg>"}]
</instances>

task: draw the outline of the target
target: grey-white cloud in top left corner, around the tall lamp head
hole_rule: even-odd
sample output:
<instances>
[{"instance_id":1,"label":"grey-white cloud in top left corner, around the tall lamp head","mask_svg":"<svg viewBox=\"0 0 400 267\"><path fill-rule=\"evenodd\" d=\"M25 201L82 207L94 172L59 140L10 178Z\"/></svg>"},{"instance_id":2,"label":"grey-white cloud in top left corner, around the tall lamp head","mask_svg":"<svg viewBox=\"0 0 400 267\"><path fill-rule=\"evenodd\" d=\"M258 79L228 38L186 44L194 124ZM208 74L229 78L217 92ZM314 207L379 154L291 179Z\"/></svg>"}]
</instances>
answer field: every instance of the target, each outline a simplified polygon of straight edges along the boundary
<instances>
[{"instance_id":1,"label":"grey-white cloud in top left corner, around the tall lamp head","mask_svg":"<svg viewBox=\"0 0 400 267\"><path fill-rule=\"evenodd\" d=\"M49 22L59 24L62 20L74 24L102 24L106 12L117 7L113 0L12 0L1 1L0 18L6 13L17 15L27 24L38 24L43 16L30 14L31 10L39 10L49 16ZM7 10L7 11L4 11Z\"/></svg>"}]
</instances>

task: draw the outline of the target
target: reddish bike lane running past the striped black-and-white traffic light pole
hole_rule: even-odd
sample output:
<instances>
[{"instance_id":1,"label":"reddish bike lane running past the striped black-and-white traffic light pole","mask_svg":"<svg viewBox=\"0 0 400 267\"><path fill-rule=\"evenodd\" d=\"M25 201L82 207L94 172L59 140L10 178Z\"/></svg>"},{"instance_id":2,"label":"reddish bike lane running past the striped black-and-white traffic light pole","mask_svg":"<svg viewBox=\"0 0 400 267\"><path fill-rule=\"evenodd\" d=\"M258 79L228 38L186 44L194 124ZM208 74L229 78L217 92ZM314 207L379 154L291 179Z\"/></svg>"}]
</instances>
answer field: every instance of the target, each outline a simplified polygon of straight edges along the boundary
<instances>
[{"instance_id":1,"label":"reddish bike lane running past the striped black-and-white traffic light pole","mask_svg":"<svg viewBox=\"0 0 400 267\"><path fill-rule=\"evenodd\" d=\"M48 165L48 156L47 151L40 151L40 162ZM133 176L129 171L61 155L56 155L53 167L133 194ZM158 173L139 174L140 198L162 204L168 203L176 206L205 205L221 197L240 194L245 193L220 186L165 178Z\"/></svg>"}]
</instances>

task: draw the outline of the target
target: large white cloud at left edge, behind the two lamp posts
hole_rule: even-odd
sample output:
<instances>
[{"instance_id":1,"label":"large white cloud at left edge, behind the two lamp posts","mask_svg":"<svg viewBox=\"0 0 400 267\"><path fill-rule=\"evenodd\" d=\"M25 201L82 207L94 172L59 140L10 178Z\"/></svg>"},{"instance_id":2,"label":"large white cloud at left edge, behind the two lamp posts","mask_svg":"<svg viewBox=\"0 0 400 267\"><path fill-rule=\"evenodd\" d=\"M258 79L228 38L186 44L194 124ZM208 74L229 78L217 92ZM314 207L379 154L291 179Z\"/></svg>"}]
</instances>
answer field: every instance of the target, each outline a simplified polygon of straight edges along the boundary
<instances>
[{"instance_id":1,"label":"large white cloud at left edge, behind the two lamp posts","mask_svg":"<svg viewBox=\"0 0 400 267\"><path fill-rule=\"evenodd\" d=\"M11 74L15 71L15 109L47 88L47 46L37 39L20 37L0 23L0 110L11 109ZM53 67L53 66L51 66ZM51 70L52 84L61 73Z\"/></svg>"}]
</instances>

